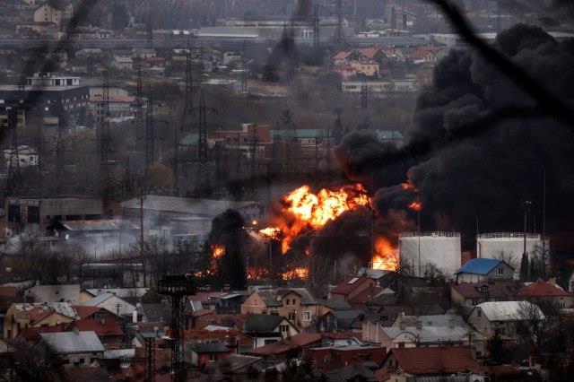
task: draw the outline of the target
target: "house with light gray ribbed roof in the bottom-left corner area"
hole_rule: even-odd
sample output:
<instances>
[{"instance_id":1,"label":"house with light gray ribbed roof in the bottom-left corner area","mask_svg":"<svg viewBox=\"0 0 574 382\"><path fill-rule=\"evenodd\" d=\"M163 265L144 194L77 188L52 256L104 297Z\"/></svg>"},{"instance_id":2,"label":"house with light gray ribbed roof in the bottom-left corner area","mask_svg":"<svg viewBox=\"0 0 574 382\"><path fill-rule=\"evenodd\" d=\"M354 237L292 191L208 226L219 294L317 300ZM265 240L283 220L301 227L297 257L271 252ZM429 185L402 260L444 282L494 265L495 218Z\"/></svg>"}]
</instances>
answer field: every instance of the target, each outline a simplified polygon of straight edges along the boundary
<instances>
[{"instance_id":1,"label":"house with light gray ribbed roof in the bottom-left corner area","mask_svg":"<svg viewBox=\"0 0 574 382\"><path fill-rule=\"evenodd\" d=\"M59 356L64 366L89 366L104 356L104 346L94 332L39 334L41 341Z\"/></svg>"}]
</instances>

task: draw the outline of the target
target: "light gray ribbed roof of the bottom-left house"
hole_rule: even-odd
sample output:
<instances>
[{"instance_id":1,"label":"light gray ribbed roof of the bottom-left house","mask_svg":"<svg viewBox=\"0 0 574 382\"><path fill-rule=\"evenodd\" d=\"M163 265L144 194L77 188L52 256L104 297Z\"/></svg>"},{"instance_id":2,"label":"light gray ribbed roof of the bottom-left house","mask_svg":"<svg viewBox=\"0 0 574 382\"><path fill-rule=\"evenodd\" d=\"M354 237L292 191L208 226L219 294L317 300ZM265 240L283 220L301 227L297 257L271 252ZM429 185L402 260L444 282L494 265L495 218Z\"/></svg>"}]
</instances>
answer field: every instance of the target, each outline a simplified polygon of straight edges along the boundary
<instances>
[{"instance_id":1,"label":"light gray ribbed roof of the bottom-left house","mask_svg":"<svg viewBox=\"0 0 574 382\"><path fill-rule=\"evenodd\" d=\"M42 341L56 353L103 352L100 338L93 332L40 333Z\"/></svg>"}]
</instances>

